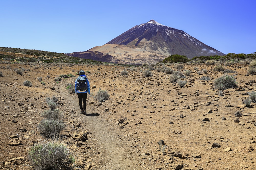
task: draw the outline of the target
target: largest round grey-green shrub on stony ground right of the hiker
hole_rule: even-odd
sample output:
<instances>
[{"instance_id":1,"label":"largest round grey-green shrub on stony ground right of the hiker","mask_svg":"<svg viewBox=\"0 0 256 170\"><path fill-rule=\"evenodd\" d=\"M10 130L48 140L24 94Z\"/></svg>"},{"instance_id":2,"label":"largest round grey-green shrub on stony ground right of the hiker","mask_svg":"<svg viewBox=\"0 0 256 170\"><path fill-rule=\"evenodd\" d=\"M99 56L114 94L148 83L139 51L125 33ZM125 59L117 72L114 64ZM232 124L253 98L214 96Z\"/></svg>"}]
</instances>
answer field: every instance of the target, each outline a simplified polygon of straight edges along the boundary
<instances>
[{"instance_id":1,"label":"largest round grey-green shrub on stony ground right of the hiker","mask_svg":"<svg viewBox=\"0 0 256 170\"><path fill-rule=\"evenodd\" d=\"M228 89L231 87L237 87L236 79L234 76L230 76L225 74L217 79L214 80L214 86L220 90Z\"/></svg>"}]
</instances>

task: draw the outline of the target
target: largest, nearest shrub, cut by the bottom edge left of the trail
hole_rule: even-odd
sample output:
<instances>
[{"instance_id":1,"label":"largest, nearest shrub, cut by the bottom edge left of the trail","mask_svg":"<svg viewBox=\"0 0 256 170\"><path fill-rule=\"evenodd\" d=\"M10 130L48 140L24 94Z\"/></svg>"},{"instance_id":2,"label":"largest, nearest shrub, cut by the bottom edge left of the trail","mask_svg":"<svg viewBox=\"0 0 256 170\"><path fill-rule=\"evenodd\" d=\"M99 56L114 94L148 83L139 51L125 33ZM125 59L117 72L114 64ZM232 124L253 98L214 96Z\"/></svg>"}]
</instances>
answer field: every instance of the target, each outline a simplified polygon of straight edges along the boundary
<instances>
[{"instance_id":1,"label":"largest, nearest shrub, cut by the bottom edge left of the trail","mask_svg":"<svg viewBox=\"0 0 256 170\"><path fill-rule=\"evenodd\" d=\"M36 143L28 151L28 160L36 170L72 170L75 162L67 146L57 142Z\"/></svg>"}]
</instances>

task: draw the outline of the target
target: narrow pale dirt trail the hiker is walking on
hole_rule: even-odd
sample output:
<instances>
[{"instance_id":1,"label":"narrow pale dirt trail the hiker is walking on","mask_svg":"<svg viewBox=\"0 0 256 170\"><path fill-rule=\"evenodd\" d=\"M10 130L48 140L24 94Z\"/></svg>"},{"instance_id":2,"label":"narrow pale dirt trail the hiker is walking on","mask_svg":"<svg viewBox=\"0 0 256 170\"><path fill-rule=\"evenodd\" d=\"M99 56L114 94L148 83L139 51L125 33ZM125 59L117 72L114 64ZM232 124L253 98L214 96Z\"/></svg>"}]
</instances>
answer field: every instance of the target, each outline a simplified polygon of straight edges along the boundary
<instances>
[{"instance_id":1,"label":"narrow pale dirt trail the hiker is walking on","mask_svg":"<svg viewBox=\"0 0 256 170\"><path fill-rule=\"evenodd\" d=\"M101 152L98 155L98 161L102 162L102 167L99 167L99 169L136 169L136 163L128 158L127 151L122 148L122 142L116 139L115 131L110 129L101 113L94 113L87 101L87 115L80 114L78 98L68 94L64 85L59 90L61 92L60 96L67 103L73 103L72 108L74 108L75 116L85 119L84 123L80 122L81 126L86 127L93 134L94 141L97 141L95 145L99 149L98 152ZM93 100L89 96L88 99Z\"/></svg>"}]
</instances>

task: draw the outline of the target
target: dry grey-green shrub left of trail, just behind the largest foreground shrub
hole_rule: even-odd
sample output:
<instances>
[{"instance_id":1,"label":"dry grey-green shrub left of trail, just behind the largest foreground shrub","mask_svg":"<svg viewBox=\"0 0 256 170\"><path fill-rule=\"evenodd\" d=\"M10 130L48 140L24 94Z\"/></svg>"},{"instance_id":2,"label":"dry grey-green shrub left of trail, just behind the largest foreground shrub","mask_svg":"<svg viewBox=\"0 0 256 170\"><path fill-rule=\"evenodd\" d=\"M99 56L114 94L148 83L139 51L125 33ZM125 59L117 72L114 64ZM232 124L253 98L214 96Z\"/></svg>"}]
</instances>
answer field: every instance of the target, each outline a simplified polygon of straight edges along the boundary
<instances>
[{"instance_id":1,"label":"dry grey-green shrub left of trail, just behind the largest foreground shrub","mask_svg":"<svg viewBox=\"0 0 256 170\"><path fill-rule=\"evenodd\" d=\"M65 129L62 120L43 119L37 126L38 131L47 138L60 136L60 132Z\"/></svg>"}]
</instances>

